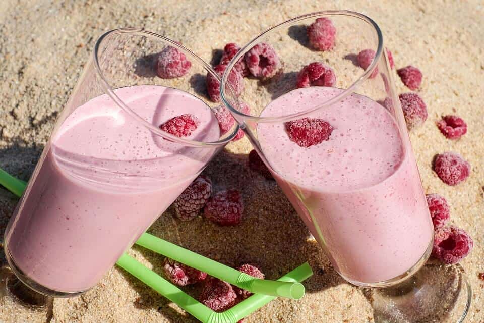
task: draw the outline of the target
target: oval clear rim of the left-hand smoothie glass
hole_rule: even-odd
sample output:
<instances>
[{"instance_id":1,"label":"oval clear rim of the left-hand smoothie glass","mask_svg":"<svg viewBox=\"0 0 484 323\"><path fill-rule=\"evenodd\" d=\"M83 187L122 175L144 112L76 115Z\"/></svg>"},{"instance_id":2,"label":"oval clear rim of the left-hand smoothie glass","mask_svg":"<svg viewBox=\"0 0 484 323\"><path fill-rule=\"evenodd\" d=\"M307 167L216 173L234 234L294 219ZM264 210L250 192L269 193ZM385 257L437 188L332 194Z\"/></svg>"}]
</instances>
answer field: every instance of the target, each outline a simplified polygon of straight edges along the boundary
<instances>
[{"instance_id":1,"label":"oval clear rim of the left-hand smoothie glass","mask_svg":"<svg viewBox=\"0 0 484 323\"><path fill-rule=\"evenodd\" d=\"M178 44L177 42L161 36L157 33L143 30L143 29L138 29L138 28L118 28L118 29L113 29L105 32L102 34L96 41L96 44L94 45L94 50L93 50L93 62L94 62L94 69L96 71L96 74L99 76L99 83L101 84L102 89L104 92L109 95L109 97L116 102L116 104L122 109L124 112L126 112L131 118L133 118L135 121L140 123L143 127L147 128L151 133L163 137L165 139L168 139L170 141L182 144L184 146L189 146L189 147L217 147L217 146L223 146L226 143L230 142L238 133L239 130L239 125L235 123L235 129L233 132L228 135L225 139L223 140L218 140L218 141L197 141L197 140L191 140L191 139L185 139L181 137L174 136L166 131L163 131L159 129L158 127L152 125L151 123L147 122L143 118L141 118L137 113L135 113L129 106L126 104L115 92L112 86L109 84L109 82L106 80L101 67L99 65L99 50L102 42L108 38L109 36L113 35L118 35L118 34L128 34L128 35L134 35L134 36L144 36L152 40L162 40L163 42L166 42L170 46L173 46L177 49L181 49L184 53L188 54L192 60L195 60L198 64L202 65L203 68L205 68L209 73L212 74L212 76L216 77L219 82L221 82L220 76L215 73L215 71L212 69L212 67L207 64L204 60L202 60L198 55L196 55L192 50L188 49L187 47ZM230 86L230 85L229 85ZM190 93L189 93L190 94ZM200 99L200 98L198 98ZM209 106L206 102L204 102L207 106ZM210 106L209 106L210 107ZM210 107L211 109L211 107Z\"/></svg>"}]
</instances>

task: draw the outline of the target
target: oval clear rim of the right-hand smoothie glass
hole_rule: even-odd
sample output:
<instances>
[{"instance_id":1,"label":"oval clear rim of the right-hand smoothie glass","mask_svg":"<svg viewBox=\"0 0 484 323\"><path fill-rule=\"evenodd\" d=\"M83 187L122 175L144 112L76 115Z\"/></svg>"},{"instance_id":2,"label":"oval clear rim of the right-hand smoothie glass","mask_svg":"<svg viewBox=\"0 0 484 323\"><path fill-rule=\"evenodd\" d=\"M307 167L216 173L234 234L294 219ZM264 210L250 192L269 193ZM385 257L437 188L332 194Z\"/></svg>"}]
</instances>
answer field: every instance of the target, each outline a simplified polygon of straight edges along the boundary
<instances>
[{"instance_id":1,"label":"oval clear rim of the right-hand smoothie glass","mask_svg":"<svg viewBox=\"0 0 484 323\"><path fill-rule=\"evenodd\" d=\"M257 43L259 43L261 38L264 38L268 34L274 32L274 31L278 31L280 29L283 29L285 27L294 25L297 22L302 21L302 20L306 20L308 18L321 18L321 16L328 16L328 15L340 15L340 16L355 17L355 18L359 18L361 20L364 20L364 21L366 21L367 23L369 23L370 25L373 26L373 28L376 31L377 37L378 37L378 47L377 47L377 50L376 50L376 53L375 53L375 57L374 57L372 63L370 64L370 66L367 68L367 70L365 70L359 77L357 77L356 80L350 86L348 86L346 89L344 89L340 94L328 99L324 103L321 103L319 105L311 107L310 109L307 109L307 110L304 110L304 111L301 111L301 112L298 112L298 113L285 115L285 116L281 116L281 117L256 117L256 116L246 115L246 114L242 113L240 109L236 109L237 107L240 107L240 101L239 101L239 98L235 95L233 89L228 84L228 75L232 71L232 69L234 68L236 62L238 62L238 60L243 58L245 53L250 48L252 48ZM368 17L364 14L360 14L358 12L349 11L349 10L325 10L325 11L317 11L317 12L297 16L297 17L291 18L289 20L286 20L282 23L279 23L277 25L274 25L272 27L269 27L268 29L266 29L265 31L260 33L258 36L254 37L251 41L249 41L246 45L244 45L237 52L237 54L229 62L227 68L225 69L225 72L222 75L222 82L220 83L220 98L221 98L223 104L225 104L225 106L227 106L227 108L229 109L229 111L232 114L234 114L235 116L238 116L240 118L243 118L244 120L255 121L255 122L260 122L260 123L291 121L291 120L297 119L298 117L303 117L303 116L305 116L309 113L312 113L314 111L322 109L326 106L332 105L332 104L338 102L339 100L343 99L344 97L353 93L354 89L359 84L366 81L370 77L370 75L373 73L373 71L377 67L377 63L378 63L378 61L379 61L379 59L382 55L382 52L383 52L382 31L380 30L380 27L378 27L377 23L373 19L371 19L370 17ZM225 89L225 86L229 87L230 95L232 96L232 98L229 98L227 96L228 93ZM235 98L235 99L233 99L233 98ZM234 100L236 102L236 107L234 107L230 103L230 100ZM237 119L237 118L235 118L235 119Z\"/></svg>"}]
</instances>

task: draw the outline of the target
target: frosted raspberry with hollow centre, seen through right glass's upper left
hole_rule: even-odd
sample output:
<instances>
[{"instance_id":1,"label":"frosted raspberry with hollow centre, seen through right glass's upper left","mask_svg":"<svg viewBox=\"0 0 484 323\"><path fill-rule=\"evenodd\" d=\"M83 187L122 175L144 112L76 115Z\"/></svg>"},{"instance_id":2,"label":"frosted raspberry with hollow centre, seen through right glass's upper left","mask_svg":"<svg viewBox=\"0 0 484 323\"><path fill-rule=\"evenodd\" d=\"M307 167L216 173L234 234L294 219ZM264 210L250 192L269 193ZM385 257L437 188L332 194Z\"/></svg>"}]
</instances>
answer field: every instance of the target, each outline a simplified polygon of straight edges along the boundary
<instances>
[{"instance_id":1,"label":"frosted raspberry with hollow centre, seen through right glass's upper left","mask_svg":"<svg viewBox=\"0 0 484 323\"><path fill-rule=\"evenodd\" d=\"M271 78L281 68L281 61L274 48L260 42L251 48L244 56L249 72L255 77Z\"/></svg>"}]
</instances>

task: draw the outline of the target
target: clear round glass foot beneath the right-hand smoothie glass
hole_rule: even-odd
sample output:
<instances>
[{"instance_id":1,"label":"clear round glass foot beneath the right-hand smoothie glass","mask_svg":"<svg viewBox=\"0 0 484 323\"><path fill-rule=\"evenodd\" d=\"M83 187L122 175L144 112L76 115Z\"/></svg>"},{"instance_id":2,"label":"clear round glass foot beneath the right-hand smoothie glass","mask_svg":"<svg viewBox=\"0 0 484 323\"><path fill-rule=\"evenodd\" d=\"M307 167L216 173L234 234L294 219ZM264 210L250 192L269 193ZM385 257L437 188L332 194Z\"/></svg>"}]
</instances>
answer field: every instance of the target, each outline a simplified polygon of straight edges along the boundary
<instances>
[{"instance_id":1,"label":"clear round glass foot beneath the right-hand smoothie glass","mask_svg":"<svg viewBox=\"0 0 484 323\"><path fill-rule=\"evenodd\" d=\"M376 323L460 323L472 296L462 266L441 263L427 263L398 285L366 293Z\"/></svg>"}]
</instances>

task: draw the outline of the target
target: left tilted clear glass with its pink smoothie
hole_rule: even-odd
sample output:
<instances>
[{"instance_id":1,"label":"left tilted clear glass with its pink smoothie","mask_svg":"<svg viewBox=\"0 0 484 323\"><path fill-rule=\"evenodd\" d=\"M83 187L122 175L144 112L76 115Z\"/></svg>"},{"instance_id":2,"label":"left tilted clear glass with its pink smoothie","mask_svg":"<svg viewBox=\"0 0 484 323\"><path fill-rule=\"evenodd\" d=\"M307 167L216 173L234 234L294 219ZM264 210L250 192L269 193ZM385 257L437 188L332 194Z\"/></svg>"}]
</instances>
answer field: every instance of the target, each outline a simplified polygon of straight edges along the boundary
<instances>
[{"instance_id":1,"label":"left tilted clear glass with its pink smoothie","mask_svg":"<svg viewBox=\"0 0 484 323\"><path fill-rule=\"evenodd\" d=\"M183 76L156 75L163 50L191 62ZM148 31L99 38L7 227L8 263L28 287L17 290L35 298L92 288L234 137L238 126L220 133L192 86L206 73L219 78ZM179 116L188 118L183 134L161 130Z\"/></svg>"}]
</instances>

